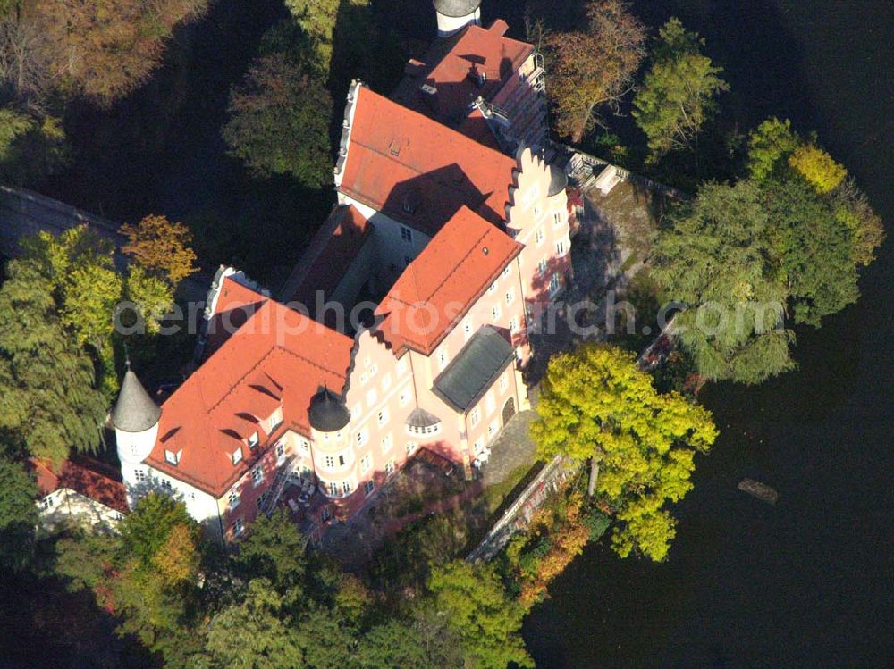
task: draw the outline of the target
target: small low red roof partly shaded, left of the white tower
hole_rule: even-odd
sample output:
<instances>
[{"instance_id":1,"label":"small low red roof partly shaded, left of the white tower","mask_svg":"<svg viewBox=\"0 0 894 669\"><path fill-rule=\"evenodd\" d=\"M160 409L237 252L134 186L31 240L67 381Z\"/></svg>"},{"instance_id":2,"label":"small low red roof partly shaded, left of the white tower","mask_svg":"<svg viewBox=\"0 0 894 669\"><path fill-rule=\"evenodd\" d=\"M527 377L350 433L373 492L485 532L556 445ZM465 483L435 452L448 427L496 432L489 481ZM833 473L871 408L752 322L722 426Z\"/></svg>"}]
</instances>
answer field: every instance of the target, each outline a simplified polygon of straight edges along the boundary
<instances>
[{"instance_id":1,"label":"small low red roof partly shaded, left of the white tower","mask_svg":"<svg viewBox=\"0 0 894 669\"><path fill-rule=\"evenodd\" d=\"M41 495L67 488L84 497L94 499L115 511L126 514L127 493L121 481L121 472L99 463L92 458L79 456L77 462L65 460L60 467L43 458L32 457L31 465L38 480Z\"/></svg>"}]
</instances>

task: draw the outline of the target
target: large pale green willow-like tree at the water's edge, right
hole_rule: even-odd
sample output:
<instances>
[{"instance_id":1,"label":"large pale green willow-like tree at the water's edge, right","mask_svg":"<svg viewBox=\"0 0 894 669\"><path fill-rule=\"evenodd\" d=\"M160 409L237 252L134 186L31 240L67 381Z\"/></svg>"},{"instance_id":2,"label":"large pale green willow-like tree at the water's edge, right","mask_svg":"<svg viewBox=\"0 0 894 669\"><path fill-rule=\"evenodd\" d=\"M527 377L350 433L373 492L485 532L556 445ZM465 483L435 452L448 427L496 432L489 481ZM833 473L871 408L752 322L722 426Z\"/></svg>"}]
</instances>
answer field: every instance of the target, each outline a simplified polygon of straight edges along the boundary
<instances>
[{"instance_id":1,"label":"large pale green willow-like tree at the water's edge, right","mask_svg":"<svg viewBox=\"0 0 894 669\"><path fill-rule=\"evenodd\" d=\"M780 327L789 289L760 190L705 184L677 205L654 239L651 276L687 305L674 324L707 379L759 383L792 369Z\"/></svg>"}]
</instances>

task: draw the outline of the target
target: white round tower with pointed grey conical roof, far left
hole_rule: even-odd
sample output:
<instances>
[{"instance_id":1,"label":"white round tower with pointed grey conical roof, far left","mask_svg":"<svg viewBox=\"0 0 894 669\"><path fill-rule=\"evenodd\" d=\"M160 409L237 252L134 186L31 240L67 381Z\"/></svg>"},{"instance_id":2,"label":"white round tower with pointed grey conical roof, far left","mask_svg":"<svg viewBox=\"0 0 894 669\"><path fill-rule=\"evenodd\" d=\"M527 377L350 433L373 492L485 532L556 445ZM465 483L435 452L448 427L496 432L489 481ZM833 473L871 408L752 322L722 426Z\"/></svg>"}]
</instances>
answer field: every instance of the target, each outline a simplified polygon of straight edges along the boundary
<instances>
[{"instance_id":1,"label":"white round tower with pointed grey conical roof, far left","mask_svg":"<svg viewBox=\"0 0 894 669\"><path fill-rule=\"evenodd\" d=\"M112 424L129 504L132 502L131 490L138 487L142 480L142 476L138 478L137 474L139 464L142 464L156 445L161 414L161 408L148 396L128 363L118 401L112 409Z\"/></svg>"}]
</instances>

